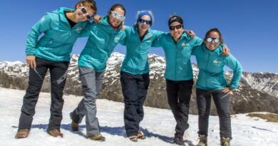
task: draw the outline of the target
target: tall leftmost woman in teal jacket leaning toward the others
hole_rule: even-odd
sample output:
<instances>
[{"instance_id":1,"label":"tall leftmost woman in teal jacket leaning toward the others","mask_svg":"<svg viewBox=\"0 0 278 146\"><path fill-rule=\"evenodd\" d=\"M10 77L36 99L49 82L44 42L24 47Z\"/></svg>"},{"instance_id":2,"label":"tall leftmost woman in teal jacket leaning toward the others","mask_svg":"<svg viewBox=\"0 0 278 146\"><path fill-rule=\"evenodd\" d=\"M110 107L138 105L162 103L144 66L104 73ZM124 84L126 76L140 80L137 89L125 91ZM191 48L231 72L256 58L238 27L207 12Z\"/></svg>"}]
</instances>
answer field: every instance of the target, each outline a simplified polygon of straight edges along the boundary
<instances>
[{"instance_id":1,"label":"tall leftmost woman in teal jacket leaning toward the others","mask_svg":"<svg viewBox=\"0 0 278 146\"><path fill-rule=\"evenodd\" d=\"M96 11L95 1L78 1L75 9L61 8L47 13L29 31L26 44L26 62L30 66L29 86L24 96L16 138L29 135L38 94L48 68L51 75L51 116L47 132L53 137L63 137L60 132L63 88L70 53L73 43ZM42 33L43 36L39 38Z\"/></svg>"}]
</instances>

